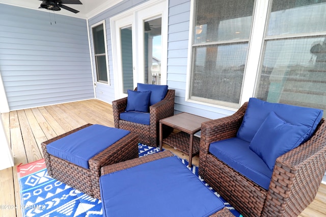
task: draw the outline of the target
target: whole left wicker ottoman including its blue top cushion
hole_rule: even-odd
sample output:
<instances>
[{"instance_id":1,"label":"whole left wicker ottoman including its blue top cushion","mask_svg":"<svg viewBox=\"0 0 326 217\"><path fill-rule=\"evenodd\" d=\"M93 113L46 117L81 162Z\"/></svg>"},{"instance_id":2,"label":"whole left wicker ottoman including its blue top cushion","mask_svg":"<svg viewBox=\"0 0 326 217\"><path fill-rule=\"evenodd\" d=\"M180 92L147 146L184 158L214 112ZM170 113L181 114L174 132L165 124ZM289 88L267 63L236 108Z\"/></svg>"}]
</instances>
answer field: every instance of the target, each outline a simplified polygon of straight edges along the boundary
<instances>
[{"instance_id":1,"label":"whole left wicker ottoman including its blue top cushion","mask_svg":"<svg viewBox=\"0 0 326 217\"><path fill-rule=\"evenodd\" d=\"M110 130L113 130L112 135L108 133L111 132ZM138 157L137 135L131 132L124 135L121 133L125 132L118 131L117 133L116 130L121 129L86 124L43 142L41 146L48 175L80 192L100 199L101 167ZM119 139L119 135L123 137ZM75 147L67 149L71 144L74 144ZM79 146L79 144L82 145ZM99 150L100 145L102 146L101 150ZM54 152L53 147L55 148ZM83 158L83 156L79 156L80 150L78 149L81 149L79 147L84 147L85 154L95 153L90 158ZM70 150L72 150L71 153L66 154Z\"/></svg>"}]
</instances>

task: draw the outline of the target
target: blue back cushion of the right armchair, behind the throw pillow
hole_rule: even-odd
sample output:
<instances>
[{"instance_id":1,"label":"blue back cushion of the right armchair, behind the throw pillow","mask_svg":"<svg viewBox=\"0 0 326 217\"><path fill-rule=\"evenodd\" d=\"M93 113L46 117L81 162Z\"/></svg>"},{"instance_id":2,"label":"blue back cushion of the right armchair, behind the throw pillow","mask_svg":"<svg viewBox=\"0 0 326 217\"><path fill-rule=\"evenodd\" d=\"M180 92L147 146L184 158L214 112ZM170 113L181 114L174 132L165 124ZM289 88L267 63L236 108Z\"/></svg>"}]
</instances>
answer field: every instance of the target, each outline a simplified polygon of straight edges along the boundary
<instances>
[{"instance_id":1,"label":"blue back cushion of the right armchair, behind the throw pillow","mask_svg":"<svg viewBox=\"0 0 326 217\"><path fill-rule=\"evenodd\" d=\"M258 128L270 112L275 112L277 116L292 125L310 127L310 130L304 137L304 142L309 140L314 133L323 113L322 110L317 108L271 103L257 98L250 98L242 124L237 132L237 137L251 142Z\"/></svg>"}]
</instances>

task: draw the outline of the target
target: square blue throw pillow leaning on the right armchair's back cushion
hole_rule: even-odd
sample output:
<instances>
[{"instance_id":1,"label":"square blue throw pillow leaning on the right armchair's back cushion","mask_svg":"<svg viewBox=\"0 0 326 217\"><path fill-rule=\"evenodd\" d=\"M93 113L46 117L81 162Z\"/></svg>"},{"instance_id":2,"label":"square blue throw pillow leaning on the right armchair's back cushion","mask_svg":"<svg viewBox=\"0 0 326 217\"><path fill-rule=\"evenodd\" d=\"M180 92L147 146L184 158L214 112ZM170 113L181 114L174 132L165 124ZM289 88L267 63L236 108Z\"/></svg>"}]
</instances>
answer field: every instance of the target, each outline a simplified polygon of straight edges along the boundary
<instances>
[{"instance_id":1,"label":"square blue throw pillow leaning on the right armchair's back cushion","mask_svg":"<svg viewBox=\"0 0 326 217\"><path fill-rule=\"evenodd\" d=\"M299 146L310 130L310 127L304 125L287 123L270 112L254 135L249 148L273 170L276 158Z\"/></svg>"}]
</instances>

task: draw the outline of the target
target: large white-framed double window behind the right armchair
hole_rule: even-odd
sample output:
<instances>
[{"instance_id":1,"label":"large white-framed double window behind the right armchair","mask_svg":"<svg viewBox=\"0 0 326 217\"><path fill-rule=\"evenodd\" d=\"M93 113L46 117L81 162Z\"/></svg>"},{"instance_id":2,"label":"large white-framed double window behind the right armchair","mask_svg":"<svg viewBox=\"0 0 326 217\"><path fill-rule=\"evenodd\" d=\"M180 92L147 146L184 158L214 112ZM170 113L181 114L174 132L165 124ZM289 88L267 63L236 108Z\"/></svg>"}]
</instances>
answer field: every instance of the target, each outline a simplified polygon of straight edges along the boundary
<instances>
[{"instance_id":1,"label":"large white-framed double window behind the right armchair","mask_svg":"<svg viewBox=\"0 0 326 217\"><path fill-rule=\"evenodd\" d=\"M188 100L325 110L326 0L194 2Z\"/></svg>"}]
</instances>

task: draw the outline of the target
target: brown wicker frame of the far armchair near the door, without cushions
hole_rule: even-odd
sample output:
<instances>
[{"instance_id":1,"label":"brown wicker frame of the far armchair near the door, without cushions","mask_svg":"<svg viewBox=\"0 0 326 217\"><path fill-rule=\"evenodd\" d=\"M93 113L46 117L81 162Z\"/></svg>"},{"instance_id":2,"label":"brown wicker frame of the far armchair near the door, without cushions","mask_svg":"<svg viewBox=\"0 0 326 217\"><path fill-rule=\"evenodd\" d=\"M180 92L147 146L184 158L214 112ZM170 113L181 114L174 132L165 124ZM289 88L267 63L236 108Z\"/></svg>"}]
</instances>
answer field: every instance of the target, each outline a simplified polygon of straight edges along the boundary
<instances>
[{"instance_id":1,"label":"brown wicker frame of the far armchair near the door, without cushions","mask_svg":"<svg viewBox=\"0 0 326 217\"><path fill-rule=\"evenodd\" d=\"M137 90L137 88L135 88ZM120 129L130 130L138 134L139 142L152 147L159 145L159 120L174 114L175 90L169 89L163 100L149 107L150 125L133 123L120 119L127 106L127 97L112 102L114 126ZM164 133L171 133L172 128L166 127Z\"/></svg>"}]
</instances>

